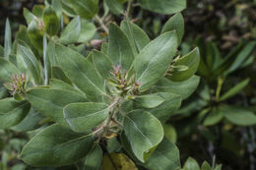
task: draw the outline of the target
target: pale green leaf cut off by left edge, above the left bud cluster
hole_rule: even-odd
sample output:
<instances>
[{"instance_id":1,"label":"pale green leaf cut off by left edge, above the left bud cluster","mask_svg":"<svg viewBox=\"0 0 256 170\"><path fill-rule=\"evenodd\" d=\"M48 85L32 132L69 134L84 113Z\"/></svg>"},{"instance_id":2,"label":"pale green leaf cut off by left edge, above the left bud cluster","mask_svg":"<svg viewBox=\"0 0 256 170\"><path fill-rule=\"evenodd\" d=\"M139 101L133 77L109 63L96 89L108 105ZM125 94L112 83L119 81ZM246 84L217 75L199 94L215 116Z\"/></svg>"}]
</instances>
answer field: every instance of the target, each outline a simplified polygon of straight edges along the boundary
<instances>
[{"instance_id":1,"label":"pale green leaf cut off by left edge, above the left bud cluster","mask_svg":"<svg viewBox=\"0 0 256 170\"><path fill-rule=\"evenodd\" d=\"M11 82L14 75L18 75L20 71L14 64L0 57L0 80L4 82Z\"/></svg>"}]
</instances>

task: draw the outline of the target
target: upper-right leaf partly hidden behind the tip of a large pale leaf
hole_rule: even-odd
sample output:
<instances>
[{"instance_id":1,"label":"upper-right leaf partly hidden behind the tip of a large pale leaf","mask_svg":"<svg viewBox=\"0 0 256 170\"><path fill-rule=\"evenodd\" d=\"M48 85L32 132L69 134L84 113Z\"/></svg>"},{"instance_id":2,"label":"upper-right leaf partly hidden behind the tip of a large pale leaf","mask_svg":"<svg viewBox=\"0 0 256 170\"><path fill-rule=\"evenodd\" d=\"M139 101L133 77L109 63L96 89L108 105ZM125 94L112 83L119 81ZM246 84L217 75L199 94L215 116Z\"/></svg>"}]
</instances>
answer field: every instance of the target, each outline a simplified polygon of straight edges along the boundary
<instances>
[{"instance_id":1,"label":"upper-right leaf partly hidden behind the tip of a large pale leaf","mask_svg":"<svg viewBox=\"0 0 256 170\"><path fill-rule=\"evenodd\" d=\"M184 35L184 19L181 13L177 13L174 16L172 16L163 26L161 33L170 30L176 30L178 44L180 44L181 39Z\"/></svg>"}]
</instances>

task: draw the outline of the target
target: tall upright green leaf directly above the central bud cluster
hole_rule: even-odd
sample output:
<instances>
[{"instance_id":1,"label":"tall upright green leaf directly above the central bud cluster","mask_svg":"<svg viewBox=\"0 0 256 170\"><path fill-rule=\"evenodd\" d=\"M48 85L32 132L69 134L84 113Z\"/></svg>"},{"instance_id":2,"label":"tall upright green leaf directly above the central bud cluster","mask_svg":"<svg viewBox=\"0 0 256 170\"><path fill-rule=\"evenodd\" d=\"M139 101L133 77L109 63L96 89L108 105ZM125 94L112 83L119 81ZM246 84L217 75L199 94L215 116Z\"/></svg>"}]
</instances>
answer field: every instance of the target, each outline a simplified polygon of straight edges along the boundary
<instances>
[{"instance_id":1,"label":"tall upright green leaf directly above the central bud cluster","mask_svg":"<svg viewBox=\"0 0 256 170\"><path fill-rule=\"evenodd\" d=\"M126 34L114 24L109 26L109 43L107 56L114 66L121 65L129 71L134 60L132 47Z\"/></svg>"}]
</instances>

